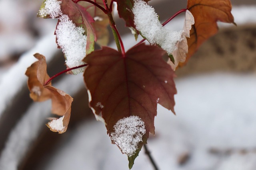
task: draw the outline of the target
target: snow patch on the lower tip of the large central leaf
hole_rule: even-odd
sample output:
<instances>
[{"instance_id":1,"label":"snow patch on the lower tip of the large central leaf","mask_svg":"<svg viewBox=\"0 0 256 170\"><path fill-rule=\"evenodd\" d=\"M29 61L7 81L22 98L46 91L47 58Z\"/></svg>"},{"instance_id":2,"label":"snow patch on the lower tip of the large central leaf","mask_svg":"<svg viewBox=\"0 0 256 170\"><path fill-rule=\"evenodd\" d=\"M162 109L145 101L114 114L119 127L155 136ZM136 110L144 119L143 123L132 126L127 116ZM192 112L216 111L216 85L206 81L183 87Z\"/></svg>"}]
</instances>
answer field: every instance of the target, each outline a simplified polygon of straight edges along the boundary
<instances>
[{"instance_id":1,"label":"snow patch on the lower tip of the large central leaf","mask_svg":"<svg viewBox=\"0 0 256 170\"><path fill-rule=\"evenodd\" d=\"M145 133L144 121L138 116L130 116L120 119L114 125L114 132L110 135L122 152L130 157L135 154Z\"/></svg>"}]
</instances>

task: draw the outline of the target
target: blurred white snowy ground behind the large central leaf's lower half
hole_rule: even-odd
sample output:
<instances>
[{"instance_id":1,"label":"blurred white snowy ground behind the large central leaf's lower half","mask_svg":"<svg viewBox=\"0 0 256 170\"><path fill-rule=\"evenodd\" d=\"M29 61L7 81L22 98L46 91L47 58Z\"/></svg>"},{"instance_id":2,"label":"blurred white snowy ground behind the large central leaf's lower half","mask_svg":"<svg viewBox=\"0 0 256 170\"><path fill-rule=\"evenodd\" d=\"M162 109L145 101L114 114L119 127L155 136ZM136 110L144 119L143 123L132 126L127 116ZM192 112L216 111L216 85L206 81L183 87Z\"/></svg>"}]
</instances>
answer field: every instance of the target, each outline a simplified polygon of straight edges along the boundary
<instances>
[{"instance_id":1,"label":"blurred white snowy ground behind the large central leaf's lower half","mask_svg":"<svg viewBox=\"0 0 256 170\"><path fill-rule=\"evenodd\" d=\"M177 79L176 86L177 115L158 105L156 135L148 140L159 168L254 170L256 75L198 75ZM127 156L111 144L102 123L85 122L73 133L72 139L60 143L46 170L128 169ZM190 159L181 166L178 160L184 153ZM133 167L141 169L153 169L143 149Z\"/></svg>"}]
</instances>

